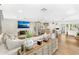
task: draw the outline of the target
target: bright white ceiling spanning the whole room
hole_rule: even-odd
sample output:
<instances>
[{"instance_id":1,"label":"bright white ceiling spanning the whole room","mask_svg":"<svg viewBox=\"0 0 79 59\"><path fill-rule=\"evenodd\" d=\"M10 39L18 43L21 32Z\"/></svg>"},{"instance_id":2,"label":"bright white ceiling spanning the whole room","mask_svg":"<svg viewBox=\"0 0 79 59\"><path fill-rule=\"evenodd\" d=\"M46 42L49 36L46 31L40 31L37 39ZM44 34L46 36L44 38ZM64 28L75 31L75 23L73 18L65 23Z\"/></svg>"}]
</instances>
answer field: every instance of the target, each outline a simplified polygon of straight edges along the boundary
<instances>
[{"instance_id":1,"label":"bright white ceiling spanning the whole room","mask_svg":"<svg viewBox=\"0 0 79 59\"><path fill-rule=\"evenodd\" d=\"M41 9L46 8L46 12ZM4 18L32 19L46 21L69 21L79 19L79 5L72 4L4 4L1 6Z\"/></svg>"}]
</instances>

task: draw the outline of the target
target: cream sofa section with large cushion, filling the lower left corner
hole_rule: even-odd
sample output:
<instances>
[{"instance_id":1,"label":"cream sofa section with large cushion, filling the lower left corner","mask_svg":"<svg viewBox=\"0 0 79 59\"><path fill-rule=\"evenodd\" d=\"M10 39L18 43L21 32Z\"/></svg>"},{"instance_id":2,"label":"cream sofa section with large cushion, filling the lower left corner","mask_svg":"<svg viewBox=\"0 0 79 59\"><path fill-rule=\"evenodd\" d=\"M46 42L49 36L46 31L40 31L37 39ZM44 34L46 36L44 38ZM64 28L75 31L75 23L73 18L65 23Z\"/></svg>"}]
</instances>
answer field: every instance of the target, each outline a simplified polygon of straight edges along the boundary
<instances>
[{"instance_id":1,"label":"cream sofa section with large cushion, filling the lower left corner","mask_svg":"<svg viewBox=\"0 0 79 59\"><path fill-rule=\"evenodd\" d=\"M11 40L9 38L3 40L2 37L3 34L0 34L0 55L17 55L18 49L20 49L20 46L24 43L25 40ZM6 41L6 43L3 41Z\"/></svg>"}]
</instances>

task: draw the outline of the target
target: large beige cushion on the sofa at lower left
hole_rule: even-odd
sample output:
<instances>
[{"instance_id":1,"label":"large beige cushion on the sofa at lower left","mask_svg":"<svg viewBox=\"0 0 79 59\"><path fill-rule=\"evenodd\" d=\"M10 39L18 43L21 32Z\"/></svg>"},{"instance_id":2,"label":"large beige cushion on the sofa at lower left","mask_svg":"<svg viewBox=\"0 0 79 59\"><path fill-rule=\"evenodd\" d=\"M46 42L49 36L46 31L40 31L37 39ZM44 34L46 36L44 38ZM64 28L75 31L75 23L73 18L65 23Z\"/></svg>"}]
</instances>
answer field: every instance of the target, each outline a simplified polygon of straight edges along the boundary
<instances>
[{"instance_id":1,"label":"large beige cushion on the sofa at lower left","mask_svg":"<svg viewBox=\"0 0 79 59\"><path fill-rule=\"evenodd\" d=\"M6 40L6 47L8 48L8 50L12 50L18 47L21 47L22 44L24 44L25 40L11 40L11 39L7 39Z\"/></svg>"}]
</instances>

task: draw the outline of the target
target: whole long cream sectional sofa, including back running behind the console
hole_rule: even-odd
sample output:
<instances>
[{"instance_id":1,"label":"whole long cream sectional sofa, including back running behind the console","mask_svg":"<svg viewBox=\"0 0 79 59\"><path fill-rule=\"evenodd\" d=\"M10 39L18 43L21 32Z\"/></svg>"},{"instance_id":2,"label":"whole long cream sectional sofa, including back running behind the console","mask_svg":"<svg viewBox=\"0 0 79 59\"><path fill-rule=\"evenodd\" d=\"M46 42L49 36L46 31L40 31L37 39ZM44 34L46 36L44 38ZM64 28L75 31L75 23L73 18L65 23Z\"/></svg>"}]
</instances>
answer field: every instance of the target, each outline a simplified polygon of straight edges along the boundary
<instances>
[{"instance_id":1,"label":"whole long cream sectional sofa, including back running behind the console","mask_svg":"<svg viewBox=\"0 0 79 59\"><path fill-rule=\"evenodd\" d=\"M26 41L26 39L20 40L20 39L10 39L7 36L5 36L5 40L3 40L3 34L1 34L0 36L0 55L17 55L17 51L18 49L21 48L21 45L24 44L24 42ZM38 37L32 37L30 39L33 40L34 44L37 43L37 40L43 40L44 38L49 38L50 35L49 34L43 34L40 35ZM2 42L5 41L5 42Z\"/></svg>"}]
</instances>

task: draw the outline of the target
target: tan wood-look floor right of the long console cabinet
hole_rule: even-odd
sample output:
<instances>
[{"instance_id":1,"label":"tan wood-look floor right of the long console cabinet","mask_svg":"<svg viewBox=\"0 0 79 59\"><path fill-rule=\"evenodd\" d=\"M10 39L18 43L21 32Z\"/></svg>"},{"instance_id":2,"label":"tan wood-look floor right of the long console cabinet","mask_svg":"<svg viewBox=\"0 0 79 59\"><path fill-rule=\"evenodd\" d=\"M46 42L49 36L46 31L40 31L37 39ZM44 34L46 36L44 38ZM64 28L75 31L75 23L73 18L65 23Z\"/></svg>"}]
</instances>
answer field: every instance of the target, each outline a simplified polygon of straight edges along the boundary
<instances>
[{"instance_id":1,"label":"tan wood-look floor right of the long console cabinet","mask_svg":"<svg viewBox=\"0 0 79 59\"><path fill-rule=\"evenodd\" d=\"M79 55L79 42L74 37L62 35L55 55Z\"/></svg>"}]
</instances>

